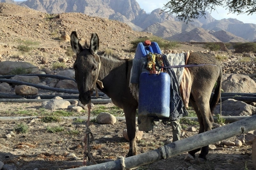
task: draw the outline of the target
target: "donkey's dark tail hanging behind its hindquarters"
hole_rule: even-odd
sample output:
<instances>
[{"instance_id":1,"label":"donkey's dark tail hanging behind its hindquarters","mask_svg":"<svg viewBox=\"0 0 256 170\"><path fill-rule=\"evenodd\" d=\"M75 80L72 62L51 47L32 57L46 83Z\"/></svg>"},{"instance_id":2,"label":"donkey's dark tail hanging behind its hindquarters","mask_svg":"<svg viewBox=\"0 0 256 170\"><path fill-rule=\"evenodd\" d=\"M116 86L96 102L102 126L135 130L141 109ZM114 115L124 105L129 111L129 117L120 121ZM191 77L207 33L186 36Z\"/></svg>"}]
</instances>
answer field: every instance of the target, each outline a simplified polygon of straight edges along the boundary
<instances>
[{"instance_id":1,"label":"donkey's dark tail hanging behind its hindquarters","mask_svg":"<svg viewBox=\"0 0 256 170\"><path fill-rule=\"evenodd\" d=\"M215 87L214 94L212 96L211 103L210 103L211 113L213 113L213 110L214 110L216 104L218 103L218 101L220 101L221 79L222 79L222 71L221 71L221 67L220 67L220 74L217 79L217 85Z\"/></svg>"}]
</instances>

